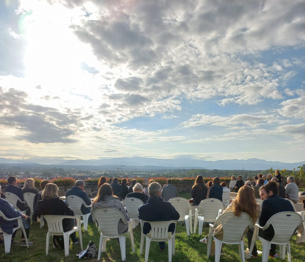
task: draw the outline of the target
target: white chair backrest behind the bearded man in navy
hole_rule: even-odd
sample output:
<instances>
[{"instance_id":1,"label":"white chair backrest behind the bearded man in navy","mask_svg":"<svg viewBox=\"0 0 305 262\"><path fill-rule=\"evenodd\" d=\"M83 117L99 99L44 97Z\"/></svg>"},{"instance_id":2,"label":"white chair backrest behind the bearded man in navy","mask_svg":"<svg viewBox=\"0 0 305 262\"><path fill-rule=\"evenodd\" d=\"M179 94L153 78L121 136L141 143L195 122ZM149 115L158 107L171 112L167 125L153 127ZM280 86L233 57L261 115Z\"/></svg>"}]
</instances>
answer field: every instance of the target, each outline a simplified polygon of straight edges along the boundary
<instances>
[{"instance_id":1,"label":"white chair backrest behind the bearded man in navy","mask_svg":"<svg viewBox=\"0 0 305 262\"><path fill-rule=\"evenodd\" d=\"M280 212L277 213L267 221L274 229L274 237L272 242L287 243L292 237L296 228L302 223L302 218L295 212Z\"/></svg>"}]
</instances>

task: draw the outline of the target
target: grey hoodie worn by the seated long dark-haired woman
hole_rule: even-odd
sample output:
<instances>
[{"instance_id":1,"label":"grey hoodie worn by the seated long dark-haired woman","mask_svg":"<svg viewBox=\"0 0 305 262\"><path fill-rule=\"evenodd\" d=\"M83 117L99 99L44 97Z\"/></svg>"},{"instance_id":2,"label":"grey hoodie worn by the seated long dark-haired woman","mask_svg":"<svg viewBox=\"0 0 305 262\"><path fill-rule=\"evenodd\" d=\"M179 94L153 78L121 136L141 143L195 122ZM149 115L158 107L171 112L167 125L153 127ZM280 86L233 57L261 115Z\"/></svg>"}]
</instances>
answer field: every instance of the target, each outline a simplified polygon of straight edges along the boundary
<instances>
[{"instance_id":1,"label":"grey hoodie worn by the seated long dark-haired woman","mask_svg":"<svg viewBox=\"0 0 305 262\"><path fill-rule=\"evenodd\" d=\"M114 198L113 196L106 196L105 201L99 201L96 203L93 203L91 205L91 216L93 214L93 211L96 208L103 208L103 207L112 207L122 212L124 215L126 221L130 220L130 217L127 215L127 212L118 198ZM94 221L95 222L95 221ZM119 234L123 234L128 229L128 224L124 224L123 221L120 219L119 223L117 224L117 230Z\"/></svg>"}]
</instances>

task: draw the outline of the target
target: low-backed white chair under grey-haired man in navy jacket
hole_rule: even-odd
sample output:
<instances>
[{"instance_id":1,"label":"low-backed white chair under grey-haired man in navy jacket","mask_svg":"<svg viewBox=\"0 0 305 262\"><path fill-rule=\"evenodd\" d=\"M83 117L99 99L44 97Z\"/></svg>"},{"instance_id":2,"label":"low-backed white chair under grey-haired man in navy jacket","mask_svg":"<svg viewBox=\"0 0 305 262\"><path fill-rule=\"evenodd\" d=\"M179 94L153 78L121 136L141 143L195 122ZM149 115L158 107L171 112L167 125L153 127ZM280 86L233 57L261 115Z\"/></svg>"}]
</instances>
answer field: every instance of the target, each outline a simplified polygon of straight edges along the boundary
<instances>
[{"instance_id":1,"label":"low-backed white chair under grey-haired man in navy jacket","mask_svg":"<svg viewBox=\"0 0 305 262\"><path fill-rule=\"evenodd\" d=\"M141 231L143 232L143 225L144 223L149 223L151 225L151 231L145 235L146 245L145 245L145 262L148 261L149 255L149 248L150 242L167 242L168 243L168 262L171 262L172 255L175 254L175 236L176 231L174 234L168 232L168 227L171 223L177 223L177 220L170 220L170 221L145 221L142 220L142 228ZM141 254L141 251L140 251Z\"/></svg>"}]
</instances>

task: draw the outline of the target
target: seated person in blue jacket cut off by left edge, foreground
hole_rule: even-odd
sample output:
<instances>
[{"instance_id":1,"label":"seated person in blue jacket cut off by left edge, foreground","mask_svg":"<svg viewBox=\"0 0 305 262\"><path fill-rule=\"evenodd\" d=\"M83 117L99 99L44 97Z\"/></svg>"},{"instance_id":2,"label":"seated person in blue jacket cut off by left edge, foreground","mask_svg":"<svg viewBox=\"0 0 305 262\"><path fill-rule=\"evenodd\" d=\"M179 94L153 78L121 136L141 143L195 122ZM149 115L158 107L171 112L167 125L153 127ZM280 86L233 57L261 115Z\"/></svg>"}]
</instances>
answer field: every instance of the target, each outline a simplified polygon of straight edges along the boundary
<instances>
[{"instance_id":1,"label":"seated person in blue jacket cut off by left edge, foreground","mask_svg":"<svg viewBox=\"0 0 305 262\"><path fill-rule=\"evenodd\" d=\"M1 186L0 186L0 194L1 194ZM30 234L30 224L31 224L31 220L30 217L20 213L19 211L16 211L16 209L14 208L13 205L11 205L6 199L4 198L0 198L0 211L9 219L12 218L17 218L17 217L22 217L23 220L23 226L25 229L25 233L27 235L27 239L29 238L29 234ZM7 221L5 220L2 216L0 217L0 227L2 228L2 230L7 233L7 234L13 234L12 236L12 240L11 240L11 245L16 245L18 244L18 241L14 240L16 233L18 230L16 230L15 232L13 232L14 227L18 227L18 221L17 220L11 220L11 221ZM2 241L4 241L4 239L0 239ZM28 245L33 245L33 242L28 241L27 242ZM21 231L21 242L20 242L21 246L27 246L26 242L25 242L25 238L24 238L24 234L23 231ZM4 261L4 260L3 260Z\"/></svg>"}]
</instances>

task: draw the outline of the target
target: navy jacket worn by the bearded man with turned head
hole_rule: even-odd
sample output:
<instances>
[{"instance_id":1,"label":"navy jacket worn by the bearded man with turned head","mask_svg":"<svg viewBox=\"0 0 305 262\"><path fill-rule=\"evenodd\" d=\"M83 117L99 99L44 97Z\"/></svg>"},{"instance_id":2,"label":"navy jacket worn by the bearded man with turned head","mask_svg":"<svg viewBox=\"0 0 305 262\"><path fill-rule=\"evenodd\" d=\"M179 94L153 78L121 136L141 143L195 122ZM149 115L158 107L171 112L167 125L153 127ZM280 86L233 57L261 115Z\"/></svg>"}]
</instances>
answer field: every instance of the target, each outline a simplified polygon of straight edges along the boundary
<instances>
[{"instance_id":1,"label":"navy jacket worn by the bearded man with turned head","mask_svg":"<svg viewBox=\"0 0 305 262\"><path fill-rule=\"evenodd\" d=\"M263 227L271 216L284 211L294 212L290 201L281 198L278 195L272 195L271 197L264 199L260 205L259 225ZM264 239L271 240L274 236L274 229L270 225L266 230L260 230L259 235Z\"/></svg>"}]
</instances>

